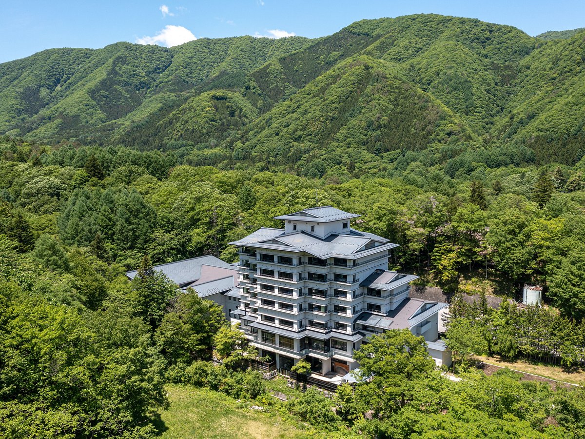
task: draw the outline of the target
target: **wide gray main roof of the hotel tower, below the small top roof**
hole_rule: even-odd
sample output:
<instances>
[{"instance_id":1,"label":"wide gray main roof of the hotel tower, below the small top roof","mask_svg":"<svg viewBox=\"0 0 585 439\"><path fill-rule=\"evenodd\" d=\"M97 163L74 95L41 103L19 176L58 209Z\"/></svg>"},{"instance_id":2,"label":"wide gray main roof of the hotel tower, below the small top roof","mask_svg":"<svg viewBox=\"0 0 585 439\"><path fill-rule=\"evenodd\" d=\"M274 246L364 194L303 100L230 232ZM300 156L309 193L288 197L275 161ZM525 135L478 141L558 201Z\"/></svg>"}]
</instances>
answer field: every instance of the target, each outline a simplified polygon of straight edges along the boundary
<instances>
[{"instance_id":1,"label":"wide gray main roof of the hotel tower, below the small top roof","mask_svg":"<svg viewBox=\"0 0 585 439\"><path fill-rule=\"evenodd\" d=\"M376 241L379 245L367 250L363 249L370 241ZM266 227L230 244L290 252L302 251L324 259L334 256L359 258L398 246L381 236L355 229L350 229L350 233L346 235L331 234L323 239L304 231L285 233L283 229Z\"/></svg>"}]
</instances>

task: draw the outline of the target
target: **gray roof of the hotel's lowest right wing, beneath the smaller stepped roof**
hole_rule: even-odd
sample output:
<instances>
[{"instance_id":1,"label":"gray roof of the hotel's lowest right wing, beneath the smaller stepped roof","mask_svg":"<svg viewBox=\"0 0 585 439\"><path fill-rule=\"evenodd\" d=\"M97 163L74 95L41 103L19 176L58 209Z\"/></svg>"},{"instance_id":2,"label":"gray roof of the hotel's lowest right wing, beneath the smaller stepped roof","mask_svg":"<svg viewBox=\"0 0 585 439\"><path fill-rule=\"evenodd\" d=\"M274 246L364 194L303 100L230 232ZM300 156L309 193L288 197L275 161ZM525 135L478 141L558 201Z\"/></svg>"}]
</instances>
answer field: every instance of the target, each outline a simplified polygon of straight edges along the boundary
<instances>
[{"instance_id":1,"label":"gray roof of the hotel's lowest right wing, beneath the smaller stepped roof","mask_svg":"<svg viewBox=\"0 0 585 439\"><path fill-rule=\"evenodd\" d=\"M425 311L418 313L417 311L424 305L430 304ZM390 311L387 315L373 314L370 311L365 311L357 317L357 321L362 324L387 329L405 329L412 328L421 321L426 320L432 314L438 313L439 310L446 307L446 303L429 302L420 299L404 299L398 307Z\"/></svg>"}]
</instances>

